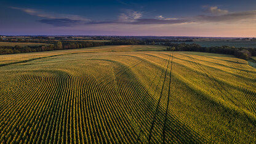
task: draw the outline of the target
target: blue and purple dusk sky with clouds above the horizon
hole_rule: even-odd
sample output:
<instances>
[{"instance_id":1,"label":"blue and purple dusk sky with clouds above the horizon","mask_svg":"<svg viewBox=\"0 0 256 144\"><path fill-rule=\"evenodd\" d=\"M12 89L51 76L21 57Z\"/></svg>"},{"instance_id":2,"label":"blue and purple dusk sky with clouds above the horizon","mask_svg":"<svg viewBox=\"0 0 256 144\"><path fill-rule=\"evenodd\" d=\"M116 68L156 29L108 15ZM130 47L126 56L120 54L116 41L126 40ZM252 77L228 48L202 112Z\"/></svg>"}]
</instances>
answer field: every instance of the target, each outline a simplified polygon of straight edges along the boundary
<instances>
[{"instance_id":1,"label":"blue and purple dusk sky with clouds above the horizon","mask_svg":"<svg viewBox=\"0 0 256 144\"><path fill-rule=\"evenodd\" d=\"M0 0L0 35L256 37L256 1Z\"/></svg>"}]
</instances>

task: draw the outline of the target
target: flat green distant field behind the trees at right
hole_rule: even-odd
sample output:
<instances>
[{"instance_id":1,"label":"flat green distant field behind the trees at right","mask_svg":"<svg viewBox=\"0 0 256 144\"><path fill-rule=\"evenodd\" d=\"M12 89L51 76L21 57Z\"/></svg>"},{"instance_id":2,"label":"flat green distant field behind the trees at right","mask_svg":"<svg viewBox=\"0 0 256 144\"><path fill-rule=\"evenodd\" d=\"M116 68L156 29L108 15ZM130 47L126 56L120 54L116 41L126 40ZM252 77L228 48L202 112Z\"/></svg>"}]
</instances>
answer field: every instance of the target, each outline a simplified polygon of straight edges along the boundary
<instances>
[{"instance_id":1,"label":"flat green distant field behind the trees at right","mask_svg":"<svg viewBox=\"0 0 256 144\"><path fill-rule=\"evenodd\" d=\"M234 46L234 47L248 47L256 48L256 41L194 41L185 42L186 44L199 44L202 47L215 47L215 46Z\"/></svg>"}]
</instances>

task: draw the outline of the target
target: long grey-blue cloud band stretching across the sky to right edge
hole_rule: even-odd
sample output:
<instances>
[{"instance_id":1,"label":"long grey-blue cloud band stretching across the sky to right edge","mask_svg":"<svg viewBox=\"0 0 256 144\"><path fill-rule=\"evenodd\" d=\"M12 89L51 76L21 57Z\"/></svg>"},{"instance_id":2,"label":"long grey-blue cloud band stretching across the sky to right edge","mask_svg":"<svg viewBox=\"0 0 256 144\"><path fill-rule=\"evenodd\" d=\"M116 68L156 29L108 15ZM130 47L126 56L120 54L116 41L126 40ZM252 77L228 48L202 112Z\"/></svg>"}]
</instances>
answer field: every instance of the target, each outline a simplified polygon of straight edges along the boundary
<instances>
[{"instance_id":1,"label":"long grey-blue cloud band stretching across the sky to right edge","mask_svg":"<svg viewBox=\"0 0 256 144\"><path fill-rule=\"evenodd\" d=\"M94 25L94 24L127 24L127 25L172 25L183 23L233 23L233 22L256 22L256 10L245 12L228 12L228 10L218 9L218 7L207 7L211 14L195 15L194 17L166 18L158 15L154 18L143 18L143 13L137 10L125 9L118 15L116 20L93 21L79 15L49 14L36 9L23 9L11 7L12 9L22 10L29 15L43 18L38 22L53 26L74 26L74 25Z\"/></svg>"}]
</instances>

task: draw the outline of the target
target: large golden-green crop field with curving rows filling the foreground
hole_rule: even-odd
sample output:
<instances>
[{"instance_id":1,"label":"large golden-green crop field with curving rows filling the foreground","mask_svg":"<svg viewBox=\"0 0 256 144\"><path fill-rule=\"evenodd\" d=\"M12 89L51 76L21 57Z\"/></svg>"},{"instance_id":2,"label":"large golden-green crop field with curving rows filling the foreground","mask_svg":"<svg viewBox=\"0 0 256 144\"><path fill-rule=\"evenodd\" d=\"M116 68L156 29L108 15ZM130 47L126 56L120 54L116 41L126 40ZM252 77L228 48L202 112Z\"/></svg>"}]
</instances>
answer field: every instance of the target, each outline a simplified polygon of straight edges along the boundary
<instances>
[{"instance_id":1,"label":"large golden-green crop field with curving rows filling the foreground","mask_svg":"<svg viewBox=\"0 0 256 144\"><path fill-rule=\"evenodd\" d=\"M256 69L164 49L0 55L0 142L255 143Z\"/></svg>"}]
</instances>

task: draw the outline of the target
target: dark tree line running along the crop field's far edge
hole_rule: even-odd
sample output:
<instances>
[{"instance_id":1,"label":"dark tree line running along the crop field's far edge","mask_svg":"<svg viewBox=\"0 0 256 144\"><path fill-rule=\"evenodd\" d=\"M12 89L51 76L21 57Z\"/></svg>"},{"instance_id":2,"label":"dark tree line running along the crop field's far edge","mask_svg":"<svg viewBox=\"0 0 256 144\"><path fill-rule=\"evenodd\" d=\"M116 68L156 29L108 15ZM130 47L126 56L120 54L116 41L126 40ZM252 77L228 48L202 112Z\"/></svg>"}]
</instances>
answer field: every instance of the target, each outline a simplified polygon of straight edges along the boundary
<instances>
[{"instance_id":1,"label":"dark tree line running along the crop field's far edge","mask_svg":"<svg viewBox=\"0 0 256 144\"><path fill-rule=\"evenodd\" d=\"M156 40L156 39L153 39ZM158 42L158 41L157 41ZM0 54L18 54L26 52L44 52L50 50L62 50L62 49L81 49L85 47L98 47L98 46L118 46L118 45L148 45L156 44L156 42L139 39L114 39L109 42L70 42L70 41L55 41L55 43L48 43L42 46L0 46ZM158 43L160 44L160 43ZM229 54L235 55L238 58L248 60L251 56L256 56L256 49L243 48L243 47L202 47L199 44L185 44L185 43L173 43L164 42L163 46L167 46L168 51L194 51L194 52L210 52L217 54Z\"/></svg>"}]
</instances>

